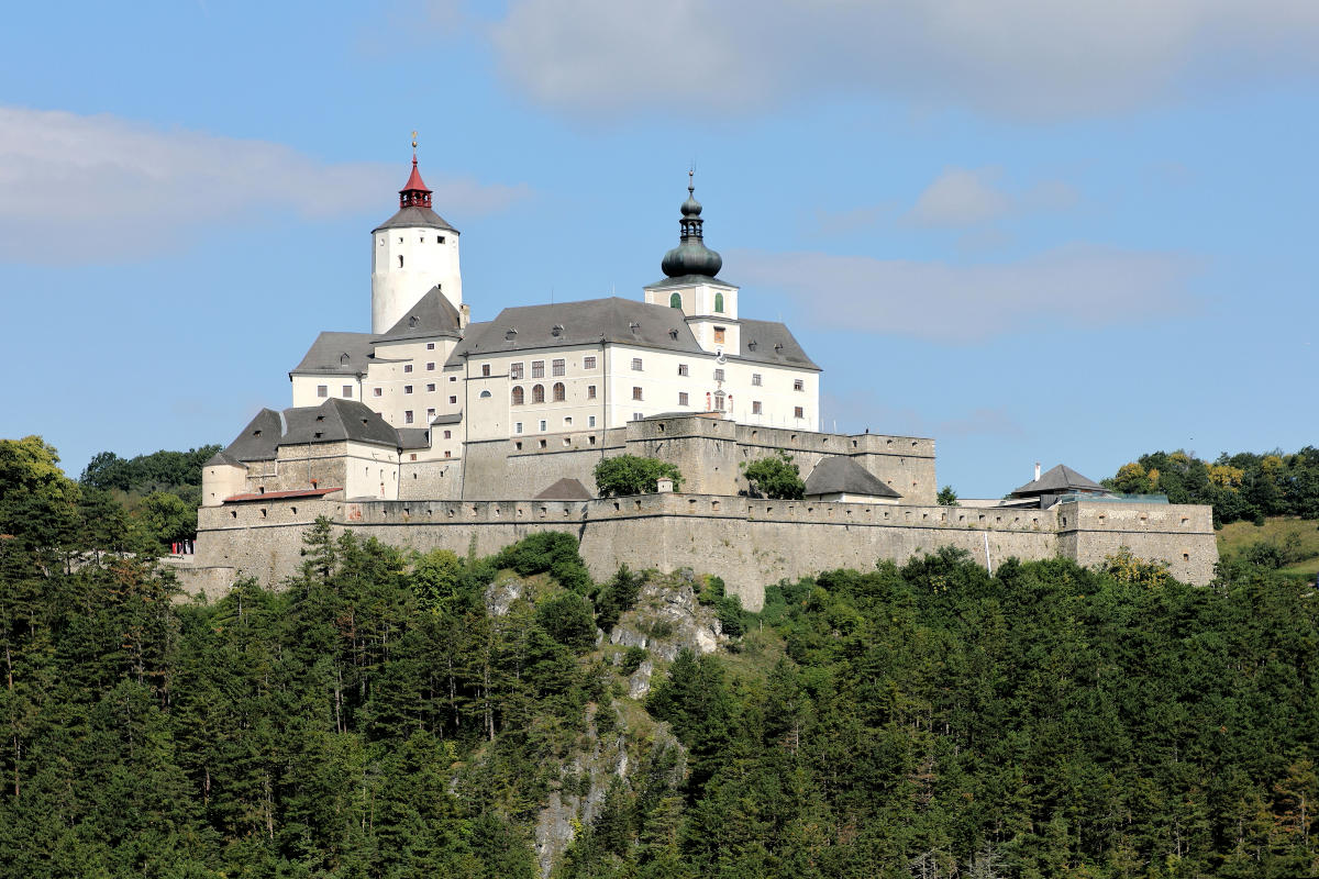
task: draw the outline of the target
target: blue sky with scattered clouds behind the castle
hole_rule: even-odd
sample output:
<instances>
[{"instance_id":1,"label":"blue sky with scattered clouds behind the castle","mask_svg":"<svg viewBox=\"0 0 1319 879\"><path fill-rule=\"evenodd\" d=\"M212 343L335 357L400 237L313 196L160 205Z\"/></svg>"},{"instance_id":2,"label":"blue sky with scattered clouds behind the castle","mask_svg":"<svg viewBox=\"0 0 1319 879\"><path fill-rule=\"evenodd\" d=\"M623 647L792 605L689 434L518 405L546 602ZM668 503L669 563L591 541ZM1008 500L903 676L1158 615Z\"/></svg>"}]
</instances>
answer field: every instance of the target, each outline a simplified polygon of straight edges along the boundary
<instances>
[{"instance_id":1,"label":"blue sky with scattered clouds behind the castle","mask_svg":"<svg viewBox=\"0 0 1319 879\"><path fill-rule=\"evenodd\" d=\"M369 327L409 133L464 299L640 297L689 163L826 428L1034 461L1319 443L1319 4L26 4L0 32L0 436L228 443Z\"/></svg>"}]
</instances>

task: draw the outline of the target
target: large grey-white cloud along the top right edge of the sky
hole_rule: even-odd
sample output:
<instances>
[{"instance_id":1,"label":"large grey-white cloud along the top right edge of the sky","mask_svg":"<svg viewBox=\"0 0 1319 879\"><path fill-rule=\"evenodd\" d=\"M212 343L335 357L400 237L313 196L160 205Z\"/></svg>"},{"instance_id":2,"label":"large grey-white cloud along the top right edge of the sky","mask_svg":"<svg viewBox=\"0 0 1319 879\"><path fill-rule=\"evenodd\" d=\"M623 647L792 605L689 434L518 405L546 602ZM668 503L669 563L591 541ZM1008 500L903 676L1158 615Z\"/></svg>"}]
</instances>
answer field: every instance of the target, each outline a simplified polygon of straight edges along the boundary
<instances>
[{"instance_id":1,"label":"large grey-white cloud along the top right edge of the sky","mask_svg":"<svg viewBox=\"0 0 1319 879\"><path fill-rule=\"evenodd\" d=\"M1314 0L510 0L506 78L600 116L740 115L820 90L1014 116L1120 111L1319 69Z\"/></svg>"}]
</instances>

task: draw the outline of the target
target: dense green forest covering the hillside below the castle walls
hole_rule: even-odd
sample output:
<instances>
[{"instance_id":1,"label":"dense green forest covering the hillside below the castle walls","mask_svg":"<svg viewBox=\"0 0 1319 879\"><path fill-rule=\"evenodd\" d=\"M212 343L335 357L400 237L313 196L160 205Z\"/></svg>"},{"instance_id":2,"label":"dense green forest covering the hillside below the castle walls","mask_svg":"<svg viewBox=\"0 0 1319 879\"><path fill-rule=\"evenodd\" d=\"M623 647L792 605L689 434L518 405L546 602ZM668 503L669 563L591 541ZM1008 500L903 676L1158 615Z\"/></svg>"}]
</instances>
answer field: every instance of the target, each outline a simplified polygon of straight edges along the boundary
<instances>
[{"instance_id":1,"label":"dense green forest covering the hillside below the castle walls","mask_svg":"<svg viewBox=\"0 0 1319 879\"><path fill-rule=\"evenodd\" d=\"M182 601L132 517L21 443L0 878L530 879L546 803L591 784L554 876L1319 870L1314 594L1245 557L1192 588L943 551L770 585L758 614L696 572L725 637L669 662L601 637L662 579L594 582L566 535L460 557L322 523L280 589ZM583 778L604 742L625 771Z\"/></svg>"}]
</instances>

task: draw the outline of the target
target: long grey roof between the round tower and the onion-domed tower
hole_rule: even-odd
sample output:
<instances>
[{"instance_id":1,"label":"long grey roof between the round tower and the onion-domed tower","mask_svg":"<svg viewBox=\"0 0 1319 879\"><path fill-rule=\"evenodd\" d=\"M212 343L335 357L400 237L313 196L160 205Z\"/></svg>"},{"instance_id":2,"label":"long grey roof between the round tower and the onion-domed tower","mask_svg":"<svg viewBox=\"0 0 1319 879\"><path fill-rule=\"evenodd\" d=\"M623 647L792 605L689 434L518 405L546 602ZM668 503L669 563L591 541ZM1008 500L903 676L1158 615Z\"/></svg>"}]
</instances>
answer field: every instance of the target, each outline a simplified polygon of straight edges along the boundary
<instances>
[{"instance_id":1,"label":"long grey roof between the round tower and the onion-domed tower","mask_svg":"<svg viewBox=\"0 0 1319 879\"><path fill-rule=\"evenodd\" d=\"M463 341L472 354L601 341L704 353L677 308L617 297L505 308L479 339Z\"/></svg>"}]
</instances>

